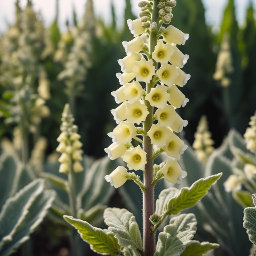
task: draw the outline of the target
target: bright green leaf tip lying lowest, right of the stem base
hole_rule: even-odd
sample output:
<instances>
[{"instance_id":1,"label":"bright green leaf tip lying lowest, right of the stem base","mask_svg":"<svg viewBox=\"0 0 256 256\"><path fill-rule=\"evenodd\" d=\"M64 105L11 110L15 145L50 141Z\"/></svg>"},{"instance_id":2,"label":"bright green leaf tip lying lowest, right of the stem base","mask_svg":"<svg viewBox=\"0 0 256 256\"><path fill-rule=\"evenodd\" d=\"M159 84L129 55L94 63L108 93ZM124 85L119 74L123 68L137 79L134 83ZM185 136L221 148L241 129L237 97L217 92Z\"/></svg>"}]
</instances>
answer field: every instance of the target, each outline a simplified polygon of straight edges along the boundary
<instances>
[{"instance_id":1,"label":"bright green leaf tip lying lowest, right of the stem base","mask_svg":"<svg viewBox=\"0 0 256 256\"><path fill-rule=\"evenodd\" d=\"M218 244L213 244L209 242L202 242L193 240L192 243L186 247L185 251L181 256L202 256L210 250L218 248Z\"/></svg>"}]
</instances>

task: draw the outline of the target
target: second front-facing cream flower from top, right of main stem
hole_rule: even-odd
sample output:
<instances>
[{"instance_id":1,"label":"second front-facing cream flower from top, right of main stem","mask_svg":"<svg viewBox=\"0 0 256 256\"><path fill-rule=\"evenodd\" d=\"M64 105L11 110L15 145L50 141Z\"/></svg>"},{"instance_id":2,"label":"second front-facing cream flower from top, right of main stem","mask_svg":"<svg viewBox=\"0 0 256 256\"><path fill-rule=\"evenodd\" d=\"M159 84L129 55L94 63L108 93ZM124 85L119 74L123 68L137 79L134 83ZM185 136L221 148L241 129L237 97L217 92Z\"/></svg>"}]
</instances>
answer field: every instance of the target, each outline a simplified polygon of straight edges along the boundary
<instances>
[{"instance_id":1,"label":"second front-facing cream flower from top, right of main stem","mask_svg":"<svg viewBox=\"0 0 256 256\"><path fill-rule=\"evenodd\" d=\"M163 63L161 68L157 70L156 75L163 84L170 86L177 79L179 73L176 66Z\"/></svg>"}]
</instances>

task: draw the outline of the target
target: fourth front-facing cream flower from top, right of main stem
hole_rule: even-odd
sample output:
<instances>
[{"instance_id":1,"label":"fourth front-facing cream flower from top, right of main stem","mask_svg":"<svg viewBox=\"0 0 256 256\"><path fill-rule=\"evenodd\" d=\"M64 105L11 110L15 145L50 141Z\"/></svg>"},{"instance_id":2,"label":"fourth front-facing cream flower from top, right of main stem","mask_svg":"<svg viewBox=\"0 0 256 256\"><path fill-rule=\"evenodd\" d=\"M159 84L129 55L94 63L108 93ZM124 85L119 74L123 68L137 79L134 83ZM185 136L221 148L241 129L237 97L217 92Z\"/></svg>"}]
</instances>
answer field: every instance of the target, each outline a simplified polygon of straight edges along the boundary
<instances>
[{"instance_id":1,"label":"fourth front-facing cream flower from top, right of main stem","mask_svg":"<svg viewBox=\"0 0 256 256\"><path fill-rule=\"evenodd\" d=\"M165 105L163 109L158 108L155 115L160 126L172 126L178 117L172 105Z\"/></svg>"}]
</instances>

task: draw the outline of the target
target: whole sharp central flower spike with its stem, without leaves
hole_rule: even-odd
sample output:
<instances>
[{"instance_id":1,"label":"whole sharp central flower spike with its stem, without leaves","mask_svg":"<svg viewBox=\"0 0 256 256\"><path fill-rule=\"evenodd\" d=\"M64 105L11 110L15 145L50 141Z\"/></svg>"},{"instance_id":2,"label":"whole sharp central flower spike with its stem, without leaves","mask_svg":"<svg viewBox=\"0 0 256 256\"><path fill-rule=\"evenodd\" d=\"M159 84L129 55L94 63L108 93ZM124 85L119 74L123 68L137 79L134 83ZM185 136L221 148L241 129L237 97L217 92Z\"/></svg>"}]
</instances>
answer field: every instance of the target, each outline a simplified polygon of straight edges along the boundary
<instances>
[{"instance_id":1,"label":"whole sharp central flower spike with its stem, without leaves","mask_svg":"<svg viewBox=\"0 0 256 256\"><path fill-rule=\"evenodd\" d=\"M166 0L139 3L140 19L127 21L134 39L123 42L127 56L118 60L123 72L117 73L121 87L111 93L119 104L111 110L118 125L108 133L113 143L105 151L112 160L122 157L127 168L119 166L105 179L115 188L128 179L140 186L144 251L139 253L147 256L155 252L155 230L150 218L155 210L154 186L161 178L176 184L187 175L177 162L187 146L175 133L188 122L175 109L189 101L178 89L190 79L181 70L189 56L177 48L185 44L189 35L172 25L166 29L162 26L171 22L175 5L176 1ZM146 36L149 40L145 40ZM139 145L133 147L133 140ZM154 159L164 151L170 160L153 166ZM143 171L143 183L127 169Z\"/></svg>"}]
</instances>

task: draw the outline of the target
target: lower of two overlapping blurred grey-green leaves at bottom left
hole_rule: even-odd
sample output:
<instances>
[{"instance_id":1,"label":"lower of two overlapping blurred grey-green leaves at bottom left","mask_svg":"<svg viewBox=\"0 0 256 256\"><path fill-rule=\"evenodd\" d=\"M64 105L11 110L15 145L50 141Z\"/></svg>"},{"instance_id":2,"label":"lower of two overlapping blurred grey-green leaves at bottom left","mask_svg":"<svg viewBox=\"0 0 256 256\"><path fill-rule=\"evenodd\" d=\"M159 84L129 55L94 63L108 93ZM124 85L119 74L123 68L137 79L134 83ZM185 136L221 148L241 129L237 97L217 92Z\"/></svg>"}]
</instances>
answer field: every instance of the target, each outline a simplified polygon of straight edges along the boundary
<instances>
[{"instance_id":1,"label":"lower of two overlapping blurred grey-green leaves at bottom left","mask_svg":"<svg viewBox=\"0 0 256 256\"><path fill-rule=\"evenodd\" d=\"M29 212L21 225L17 228L12 240L5 243L1 249L1 255L7 256L13 253L17 248L30 238L30 234L35 231L42 222L48 209L51 207L55 197L55 192L45 190L34 200L29 208Z\"/></svg>"}]
</instances>

